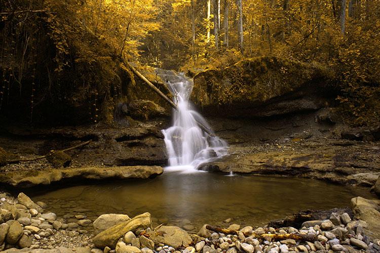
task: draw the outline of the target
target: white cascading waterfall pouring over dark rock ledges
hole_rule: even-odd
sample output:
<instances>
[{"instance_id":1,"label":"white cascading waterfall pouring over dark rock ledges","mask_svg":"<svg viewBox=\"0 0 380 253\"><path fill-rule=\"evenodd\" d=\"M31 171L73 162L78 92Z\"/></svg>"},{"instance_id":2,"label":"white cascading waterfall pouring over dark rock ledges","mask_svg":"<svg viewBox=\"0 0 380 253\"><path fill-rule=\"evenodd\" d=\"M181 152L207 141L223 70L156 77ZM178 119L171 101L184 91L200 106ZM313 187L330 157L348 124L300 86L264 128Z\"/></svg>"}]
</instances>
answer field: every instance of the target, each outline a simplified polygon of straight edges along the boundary
<instances>
[{"instance_id":1,"label":"white cascading waterfall pouring over dark rock ledges","mask_svg":"<svg viewBox=\"0 0 380 253\"><path fill-rule=\"evenodd\" d=\"M183 74L161 70L160 75L167 81L173 94L173 102L178 110L173 109L172 126L163 130L166 150L172 171L194 171L201 164L215 160L227 154L227 143L204 132L197 121L211 130L210 125L196 112L189 103L193 90L193 81Z\"/></svg>"}]
</instances>

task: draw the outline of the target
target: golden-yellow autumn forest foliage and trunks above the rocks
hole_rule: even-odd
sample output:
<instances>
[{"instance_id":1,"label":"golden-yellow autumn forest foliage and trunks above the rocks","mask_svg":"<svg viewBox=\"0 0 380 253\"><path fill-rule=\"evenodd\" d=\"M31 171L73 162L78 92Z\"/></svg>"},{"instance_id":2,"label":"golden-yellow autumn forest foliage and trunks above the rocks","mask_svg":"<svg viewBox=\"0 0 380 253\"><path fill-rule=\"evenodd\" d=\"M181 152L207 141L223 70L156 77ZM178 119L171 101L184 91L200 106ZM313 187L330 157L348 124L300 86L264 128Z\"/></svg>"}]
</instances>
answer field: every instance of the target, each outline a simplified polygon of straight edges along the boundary
<instances>
[{"instance_id":1,"label":"golden-yellow autumn forest foliage and trunks above the rocks","mask_svg":"<svg viewBox=\"0 0 380 253\"><path fill-rule=\"evenodd\" d=\"M93 81L87 98L106 100L122 90L115 61L197 73L276 56L329 68L354 124L380 118L380 0L2 0L0 15L2 104L24 82L25 107L46 100L36 76L62 99L62 79L80 62L97 66L74 82Z\"/></svg>"}]
</instances>

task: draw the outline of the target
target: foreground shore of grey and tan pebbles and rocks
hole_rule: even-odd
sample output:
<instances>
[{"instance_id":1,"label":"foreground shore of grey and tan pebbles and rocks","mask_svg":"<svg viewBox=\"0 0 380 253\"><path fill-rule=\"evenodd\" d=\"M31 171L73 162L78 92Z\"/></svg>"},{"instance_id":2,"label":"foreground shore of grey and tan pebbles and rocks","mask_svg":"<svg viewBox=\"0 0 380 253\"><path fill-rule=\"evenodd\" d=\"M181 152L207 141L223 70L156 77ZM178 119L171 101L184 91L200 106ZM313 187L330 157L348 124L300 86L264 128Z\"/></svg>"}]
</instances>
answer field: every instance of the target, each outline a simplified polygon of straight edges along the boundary
<instances>
[{"instance_id":1,"label":"foreground shore of grey and tan pebbles and rocks","mask_svg":"<svg viewBox=\"0 0 380 253\"><path fill-rule=\"evenodd\" d=\"M299 227L286 226L291 217L268 226L205 224L188 234L176 226L152 227L149 213L133 217L104 214L95 220L85 210L63 217L49 212L48 203L34 203L20 193L0 196L0 249L4 252L378 252L380 200L356 197L353 213L344 209L304 216ZM350 213L350 214L349 214ZM295 217L295 216L294 216ZM293 217L293 218L294 218ZM309 220L318 218L318 220ZM302 220L298 220L300 222ZM285 225L281 227L281 225Z\"/></svg>"}]
</instances>

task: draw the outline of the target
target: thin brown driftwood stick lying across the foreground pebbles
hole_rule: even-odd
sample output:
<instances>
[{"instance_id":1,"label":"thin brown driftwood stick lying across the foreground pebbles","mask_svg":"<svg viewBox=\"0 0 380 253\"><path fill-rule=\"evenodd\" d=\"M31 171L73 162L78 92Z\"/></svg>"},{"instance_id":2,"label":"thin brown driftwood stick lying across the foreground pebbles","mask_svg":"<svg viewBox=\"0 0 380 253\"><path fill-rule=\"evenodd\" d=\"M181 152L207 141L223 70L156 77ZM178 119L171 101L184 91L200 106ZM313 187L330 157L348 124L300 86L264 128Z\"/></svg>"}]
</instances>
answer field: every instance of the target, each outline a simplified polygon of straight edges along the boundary
<instances>
[{"instance_id":1,"label":"thin brown driftwood stick lying across the foreground pebbles","mask_svg":"<svg viewBox=\"0 0 380 253\"><path fill-rule=\"evenodd\" d=\"M214 232L218 232L218 233L223 233L223 234L238 235L238 233L239 233L239 231L236 231L236 230L214 227L214 226L210 226L210 225L207 225L206 229L214 231ZM258 234L252 233L252 232L246 232L243 234L246 237L253 235L256 238L265 239L265 240L271 239L271 240L275 240L275 241L293 239L293 240L298 240L298 241L314 242L316 240L316 237L314 235L304 235L304 234L298 234L298 233L292 233L292 234L261 234L261 235L258 235Z\"/></svg>"}]
</instances>

